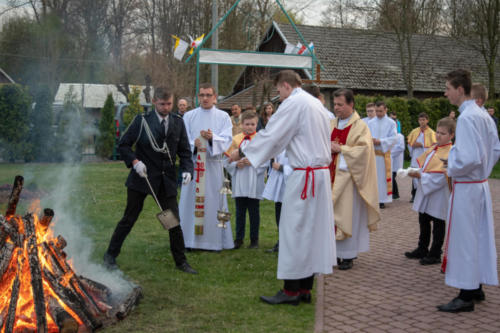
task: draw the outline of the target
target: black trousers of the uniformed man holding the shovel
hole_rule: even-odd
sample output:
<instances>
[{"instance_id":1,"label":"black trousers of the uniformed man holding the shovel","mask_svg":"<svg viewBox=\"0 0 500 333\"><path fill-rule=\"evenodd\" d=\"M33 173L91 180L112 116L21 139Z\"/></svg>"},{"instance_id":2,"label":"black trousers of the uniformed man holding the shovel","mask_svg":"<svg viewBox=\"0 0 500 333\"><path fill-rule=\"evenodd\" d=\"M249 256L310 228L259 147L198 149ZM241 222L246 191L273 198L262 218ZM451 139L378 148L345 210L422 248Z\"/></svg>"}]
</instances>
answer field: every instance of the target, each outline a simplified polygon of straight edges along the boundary
<instances>
[{"instance_id":1,"label":"black trousers of the uniformed man holding the shovel","mask_svg":"<svg viewBox=\"0 0 500 333\"><path fill-rule=\"evenodd\" d=\"M123 217L118 222L115 231L113 232L113 236L111 236L111 241L109 242L108 253L113 257L116 258L120 254L125 238L127 238L135 224L135 221L139 218L146 196L146 193L137 192L129 188L127 189L127 207L125 208ZM161 207L163 209L170 209L175 217L179 219L177 198L175 196L167 197L165 192L162 190L160 190L157 197L160 201ZM158 227L160 228L159 225ZM168 233L170 236L170 251L174 257L175 264L180 265L186 261L186 256L184 254L184 236L182 235L181 226L178 225L177 227L170 229Z\"/></svg>"}]
</instances>

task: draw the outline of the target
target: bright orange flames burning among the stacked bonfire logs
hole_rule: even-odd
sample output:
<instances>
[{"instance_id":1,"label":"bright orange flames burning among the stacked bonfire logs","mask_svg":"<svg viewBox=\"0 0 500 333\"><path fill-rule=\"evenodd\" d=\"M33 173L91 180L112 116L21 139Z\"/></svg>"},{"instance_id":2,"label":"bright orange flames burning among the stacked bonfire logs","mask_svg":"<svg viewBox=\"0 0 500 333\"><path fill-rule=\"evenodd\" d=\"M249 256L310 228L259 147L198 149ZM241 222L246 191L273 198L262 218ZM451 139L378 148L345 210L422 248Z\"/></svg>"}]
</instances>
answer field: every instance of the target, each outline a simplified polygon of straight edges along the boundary
<instances>
[{"instance_id":1,"label":"bright orange flames burning among the stacked bonfire logs","mask_svg":"<svg viewBox=\"0 0 500 333\"><path fill-rule=\"evenodd\" d=\"M42 270L42 285L43 285L43 293L45 299L45 308L46 314L45 317L47 319L47 331L48 332L59 332L59 327L57 326L55 319L52 318L52 315L49 312L49 299L55 299L57 304L64 309L73 319L78 323L79 326L84 327L84 323L82 319L69 307L57 294L57 292L51 287L50 282L47 280L45 274L43 274L43 270L47 269L51 273L55 274L58 271L54 265L57 263L52 263L51 260L47 260L46 251L43 246L40 244L46 242L55 243L55 237L52 228L50 225L44 226L40 223L40 219L38 218L38 214L40 214L40 200L35 200L29 208L29 211L33 214L33 223L35 227L35 237L37 240L37 253L40 268ZM16 317L14 321L14 332L18 331L37 331L36 327L36 311L35 311L35 302L34 302L34 294L32 287L32 277L30 271L30 263L29 263L29 248L28 241L29 238L26 237L26 230L24 227L23 220L20 216L14 215L8 217L9 220L12 219L11 224L17 225L18 232L20 235L24 235L21 237L23 239L22 247L15 247L10 262L5 270L2 281L0 282L0 330L4 327L4 323L6 322L7 315L9 312L9 307L11 303L11 295L13 292L13 286L16 278L19 278L19 296L16 303ZM6 244L15 244L16 240L7 239ZM59 258L58 260L65 260L64 258ZM72 265L68 266L71 267ZM60 270L60 269L59 269ZM74 276L72 270L66 271L64 269L64 274L58 281L61 285L68 287L70 285L70 279ZM82 293L81 290L77 290L78 293Z\"/></svg>"}]
</instances>

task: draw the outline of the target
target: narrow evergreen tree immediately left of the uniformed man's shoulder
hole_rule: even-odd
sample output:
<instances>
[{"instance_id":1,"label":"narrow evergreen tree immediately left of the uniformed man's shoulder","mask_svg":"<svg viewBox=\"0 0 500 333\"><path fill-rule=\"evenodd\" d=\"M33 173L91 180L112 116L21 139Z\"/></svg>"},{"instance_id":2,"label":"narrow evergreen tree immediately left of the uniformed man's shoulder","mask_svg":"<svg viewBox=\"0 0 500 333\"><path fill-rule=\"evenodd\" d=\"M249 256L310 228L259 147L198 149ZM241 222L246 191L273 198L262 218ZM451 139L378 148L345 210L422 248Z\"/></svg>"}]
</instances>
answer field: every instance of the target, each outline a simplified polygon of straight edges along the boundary
<instances>
[{"instance_id":1,"label":"narrow evergreen tree immediately left of the uniformed man's shoulder","mask_svg":"<svg viewBox=\"0 0 500 333\"><path fill-rule=\"evenodd\" d=\"M101 109L101 120L99 121L99 134L96 144L97 155L104 158L111 156L115 145L114 111L115 101L113 100L113 96L108 94L104 107Z\"/></svg>"}]
</instances>

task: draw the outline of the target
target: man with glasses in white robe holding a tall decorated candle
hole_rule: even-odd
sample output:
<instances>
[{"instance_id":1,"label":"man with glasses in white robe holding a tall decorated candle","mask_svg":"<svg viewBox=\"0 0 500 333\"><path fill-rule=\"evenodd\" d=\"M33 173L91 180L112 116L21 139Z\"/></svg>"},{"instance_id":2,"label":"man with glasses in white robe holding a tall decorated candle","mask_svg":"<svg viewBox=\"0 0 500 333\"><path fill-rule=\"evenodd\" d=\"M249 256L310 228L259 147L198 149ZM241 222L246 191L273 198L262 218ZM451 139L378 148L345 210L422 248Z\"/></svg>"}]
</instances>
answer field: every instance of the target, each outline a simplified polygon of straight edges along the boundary
<instances>
[{"instance_id":1,"label":"man with glasses in white robe holding a tall decorated candle","mask_svg":"<svg viewBox=\"0 0 500 333\"><path fill-rule=\"evenodd\" d=\"M234 242L231 226L229 224L226 224L226 228L217 226L217 210L227 208L226 198L222 197L219 191L224 180L222 155L229 149L233 140L231 118L226 112L215 107L217 95L211 84L200 85L198 100L200 106L184 114L183 118L195 162L194 181L182 186L179 203L184 241L186 248L191 249L214 251L232 249ZM200 137L207 142L204 163L197 161L198 151L203 147ZM204 179L203 196L196 193L196 184L201 179ZM198 218L203 218L202 227L197 226L197 229L195 200L197 209L201 209L196 211L200 215Z\"/></svg>"}]
</instances>

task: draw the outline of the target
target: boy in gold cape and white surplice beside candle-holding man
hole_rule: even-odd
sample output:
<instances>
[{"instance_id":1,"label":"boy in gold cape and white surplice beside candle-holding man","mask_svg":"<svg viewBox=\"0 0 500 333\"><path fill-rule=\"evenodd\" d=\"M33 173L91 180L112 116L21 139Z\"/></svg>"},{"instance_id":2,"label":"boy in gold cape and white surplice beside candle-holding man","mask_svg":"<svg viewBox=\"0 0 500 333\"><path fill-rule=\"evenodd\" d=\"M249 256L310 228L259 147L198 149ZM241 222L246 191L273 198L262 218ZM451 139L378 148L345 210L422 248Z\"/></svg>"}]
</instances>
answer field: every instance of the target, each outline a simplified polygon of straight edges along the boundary
<instances>
[{"instance_id":1,"label":"boy in gold cape and white surplice beside candle-holding man","mask_svg":"<svg viewBox=\"0 0 500 333\"><path fill-rule=\"evenodd\" d=\"M246 147L257 134L259 116L255 111L245 111L241 115L242 133L233 137L233 143L225 153L229 156L233 150ZM226 170L231 175L232 196L236 205L236 237L234 248L239 249L245 239L246 213L250 217L250 246L249 249L259 247L260 212L259 205L264 191L264 174L267 163L254 168L248 159L238 162L225 161Z\"/></svg>"}]
</instances>

